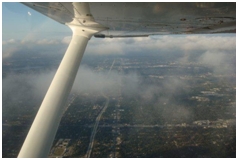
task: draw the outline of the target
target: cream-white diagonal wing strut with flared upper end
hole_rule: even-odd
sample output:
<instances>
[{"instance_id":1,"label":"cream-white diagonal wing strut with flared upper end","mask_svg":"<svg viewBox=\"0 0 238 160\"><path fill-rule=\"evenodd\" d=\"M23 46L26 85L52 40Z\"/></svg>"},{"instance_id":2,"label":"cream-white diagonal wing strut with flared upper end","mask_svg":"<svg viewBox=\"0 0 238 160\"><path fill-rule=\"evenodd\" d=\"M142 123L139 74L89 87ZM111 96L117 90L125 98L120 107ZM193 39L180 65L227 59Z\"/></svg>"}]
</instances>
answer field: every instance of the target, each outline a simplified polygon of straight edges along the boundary
<instances>
[{"instance_id":1,"label":"cream-white diagonal wing strut with flared upper end","mask_svg":"<svg viewBox=\"0 0 238 160\"><path fill-rule=\"evenodd\" d=\"M105 28L68 25L73 36L45 95L18 158L47 157L88 40Z\"/></svg>"}]
</instances>

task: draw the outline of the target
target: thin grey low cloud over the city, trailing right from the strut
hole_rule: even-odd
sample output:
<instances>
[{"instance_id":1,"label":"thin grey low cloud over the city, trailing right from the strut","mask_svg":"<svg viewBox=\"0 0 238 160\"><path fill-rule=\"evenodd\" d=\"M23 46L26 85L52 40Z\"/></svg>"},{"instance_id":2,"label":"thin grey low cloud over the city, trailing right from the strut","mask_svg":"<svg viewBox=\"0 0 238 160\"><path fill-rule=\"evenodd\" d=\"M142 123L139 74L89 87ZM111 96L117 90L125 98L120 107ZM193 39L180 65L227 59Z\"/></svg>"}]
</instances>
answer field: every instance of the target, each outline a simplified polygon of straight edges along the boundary
<instances>
[{"instance_id":1,"label":"thin grey low cloud over the city, trailing right from the strut","mask_svg":"<svg viewBox=\"0 0 238 160\"><path fill-rule=\"evenodd\" d=\"M3 78L4 113L10 114L10 111L5 108L9 103L15 107L18 106L19 102L34 104L34 106L29 105L28 107L40 105L55 72L56 70L42 71L40 73L11 73ZM168 79L164 81L162 86L149 83L144 84L142 78L133 72L122 74L111 70L110 74L108 74L108 70L98 72L85 65L81 65L71 92L94 95L104 93L105 95L110 95L110 97L117 97L119 89L121 89L124 96L128 98L138 97L141 103L144 104L151 101L168 103L171 98L170 95L181 88L185 88L184 85L185 83L179 79ZM164 96L158 96L161 93L165 93ZM175 114L174 110L176 110L176 113L178 112L175 118L177 117L181 120L188 118L189 111L186 108L180 107L172 101L170 101L169 106L163 106L167 108L164 108L163 112L160 113L163 114L161 116L164 119L168 118L168 116L165 116L168 112Z\"/></svg>"}]
</instances>

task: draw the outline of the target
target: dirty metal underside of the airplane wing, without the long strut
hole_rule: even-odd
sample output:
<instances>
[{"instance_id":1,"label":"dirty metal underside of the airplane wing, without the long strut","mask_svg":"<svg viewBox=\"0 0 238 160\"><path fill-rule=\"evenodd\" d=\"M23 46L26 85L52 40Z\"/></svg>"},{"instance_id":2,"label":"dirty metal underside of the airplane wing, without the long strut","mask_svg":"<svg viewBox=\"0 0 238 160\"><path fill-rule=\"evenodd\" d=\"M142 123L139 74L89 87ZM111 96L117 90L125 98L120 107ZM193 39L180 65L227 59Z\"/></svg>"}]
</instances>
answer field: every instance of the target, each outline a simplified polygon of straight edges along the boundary
<instances>
[{"instance_id":1,"label":"dirty metal underside of the airplane wing, without the long strut","mask_svg":"<svg viewBox=\"0 0 238 160\"><path fill-rule=\"evenodd\" d=\"M80 2L79 2L80 3ZM96 37L163 34L235 33L236 3L23 3L62 23L90 26L87 19L107 27Z\"/></svg>"}]
</instances>

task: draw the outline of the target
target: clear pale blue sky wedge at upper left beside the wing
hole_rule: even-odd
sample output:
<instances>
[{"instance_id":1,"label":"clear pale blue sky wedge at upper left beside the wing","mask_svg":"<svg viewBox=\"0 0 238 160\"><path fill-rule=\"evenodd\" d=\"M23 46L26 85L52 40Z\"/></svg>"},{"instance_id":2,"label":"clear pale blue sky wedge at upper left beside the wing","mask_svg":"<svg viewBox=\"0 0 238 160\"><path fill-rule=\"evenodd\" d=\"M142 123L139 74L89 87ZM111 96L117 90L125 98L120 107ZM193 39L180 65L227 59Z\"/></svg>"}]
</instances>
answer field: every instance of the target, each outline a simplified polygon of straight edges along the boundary
<instances>
[{"instance_id":1,"label":"clear pale blue sky wedge at upper left beside the wing","mask_svg":"<svg viewBox=\"0 0 238 160\"><path fill-rule=\"evenodd\" d=\"M17 26L17 27L16 27ZM2 3L3 40L59 38L70 29L21 3ZM61 32L59 34L59 32ZM58 35L57 35L58 34Z\"/></svg>"}]
</instances>

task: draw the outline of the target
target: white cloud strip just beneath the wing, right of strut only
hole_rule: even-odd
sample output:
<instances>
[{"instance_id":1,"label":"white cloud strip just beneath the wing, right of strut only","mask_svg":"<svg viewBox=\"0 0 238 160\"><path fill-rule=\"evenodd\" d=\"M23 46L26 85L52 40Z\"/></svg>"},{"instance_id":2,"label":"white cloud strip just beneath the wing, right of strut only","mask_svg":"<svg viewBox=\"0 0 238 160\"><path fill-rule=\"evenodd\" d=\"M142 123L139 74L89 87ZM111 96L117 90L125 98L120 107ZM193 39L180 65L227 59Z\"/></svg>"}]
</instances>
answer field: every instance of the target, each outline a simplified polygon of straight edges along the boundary
<instances>
[{"instance_id":1,"label":"white cloud strip just beneath the wing, right of strut only","mask_svg":"<svg viewBox=\"0 0 238 160\"><path fill-rule=\"evenodd\" d=\"M229 35L166 35L148 38L92 39L90 54L127 54L130 52L194 52L207 50L234 50L235 36Z\"/></svg>"}]
</instances>

